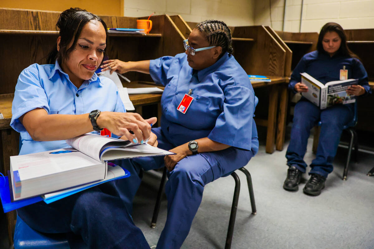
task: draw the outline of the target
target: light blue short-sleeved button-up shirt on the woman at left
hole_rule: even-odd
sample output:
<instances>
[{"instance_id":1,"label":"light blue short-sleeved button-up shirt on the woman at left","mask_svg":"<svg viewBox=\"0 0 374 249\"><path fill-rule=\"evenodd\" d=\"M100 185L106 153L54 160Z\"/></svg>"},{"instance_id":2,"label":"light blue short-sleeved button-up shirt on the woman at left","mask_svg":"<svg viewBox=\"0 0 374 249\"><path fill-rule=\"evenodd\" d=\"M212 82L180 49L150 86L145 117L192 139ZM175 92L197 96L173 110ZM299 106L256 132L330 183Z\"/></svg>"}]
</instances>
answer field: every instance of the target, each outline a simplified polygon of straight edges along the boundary
<instances>
[{"instance_id":1,"label":"light blue short-sleeved button-up shirt on the woman at left","mask_svg":"<svg viewBox=\"0 0 374 249\"><path fill-rule=\"evenodd\" d=\"M93 74L77 88L57 61L55 65L33 64L19 75L12 104L10 126L21 133L20 155L69 147L65 140L34 141L31 138L19 117L36 108L44 108L48 114L84 114L96 109L126 112L112 80Z\"/></svg>"}]
</instances>

